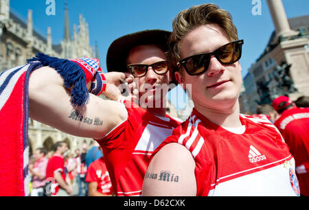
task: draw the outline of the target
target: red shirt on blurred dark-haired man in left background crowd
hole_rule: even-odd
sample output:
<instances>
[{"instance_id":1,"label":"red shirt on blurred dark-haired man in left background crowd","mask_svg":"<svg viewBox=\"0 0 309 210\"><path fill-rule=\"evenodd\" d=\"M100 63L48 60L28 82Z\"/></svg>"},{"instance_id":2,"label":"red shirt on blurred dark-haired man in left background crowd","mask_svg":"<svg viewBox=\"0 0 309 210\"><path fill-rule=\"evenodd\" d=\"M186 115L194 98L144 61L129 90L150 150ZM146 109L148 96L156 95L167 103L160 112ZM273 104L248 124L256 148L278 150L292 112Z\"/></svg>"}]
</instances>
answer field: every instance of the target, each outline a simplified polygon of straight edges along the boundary
<instances>
[{"instance_id":1,"label":"red shirt on blurred dark-haired man in left background crowd","mask_svg":"<svg viewBox=\"0 0 309 210\"><path fill-rule=\"evenodd\" d=\"M54 178L54 172L60 172L63 180L65 180L65 158L61 154L54 154L54 156L49 159L46 168L46 180L52 181L51 191L53 196L55 196L60 189L60 185Z\"/></svg>"}]
</instances>

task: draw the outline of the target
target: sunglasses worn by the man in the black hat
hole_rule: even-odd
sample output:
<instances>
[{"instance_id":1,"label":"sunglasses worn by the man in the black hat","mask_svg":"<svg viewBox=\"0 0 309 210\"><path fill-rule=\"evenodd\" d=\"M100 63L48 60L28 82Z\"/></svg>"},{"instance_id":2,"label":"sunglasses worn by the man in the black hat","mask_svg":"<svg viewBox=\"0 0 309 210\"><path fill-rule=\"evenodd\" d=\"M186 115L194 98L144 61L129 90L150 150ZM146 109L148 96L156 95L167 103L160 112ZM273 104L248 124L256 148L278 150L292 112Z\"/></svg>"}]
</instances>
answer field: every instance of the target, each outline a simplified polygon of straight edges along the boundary
<instances>
[{"instance_id":1,"label":"sunglasses worn by the man in the black hat","mask_svg":"<svg viewBox=\"0 0 309 210\"><path fill-rule=\"evenodd\" d=\"M135 78L140 78L144 75L146 75L149 67L155 71L155 73L162 75L166 72L168 72L168 60L162 60L159 62L155 62L152 65L146 65L146 64L133 64L133 65L128 65L128 71L132 73L132 75Z\"/></svg>"}]
</instances>

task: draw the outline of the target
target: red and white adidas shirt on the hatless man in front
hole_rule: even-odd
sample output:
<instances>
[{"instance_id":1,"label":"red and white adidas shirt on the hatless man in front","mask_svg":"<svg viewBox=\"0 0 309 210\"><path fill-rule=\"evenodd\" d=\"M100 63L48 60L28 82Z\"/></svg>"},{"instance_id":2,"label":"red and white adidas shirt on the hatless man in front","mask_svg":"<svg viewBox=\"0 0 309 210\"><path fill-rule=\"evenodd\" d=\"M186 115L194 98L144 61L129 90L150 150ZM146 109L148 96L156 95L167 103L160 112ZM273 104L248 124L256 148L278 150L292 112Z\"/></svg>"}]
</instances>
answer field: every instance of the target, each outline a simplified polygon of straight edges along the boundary
<instances>
[{"instance_id":1,"label":"red and white adidas shirt on the hatless man in front","mask_svg":"<svg viewBox=\"0 0 309 210\"><path fill-rule=\"evenodd\" d=\"M196 196L299 195L295 161L277 128L264 117L240 115L240 121L240 130L227 130L194 109L155 152L168 143L190 150ZM174 174L164 176L178 180Z\"/></svg>"}]
</instances>

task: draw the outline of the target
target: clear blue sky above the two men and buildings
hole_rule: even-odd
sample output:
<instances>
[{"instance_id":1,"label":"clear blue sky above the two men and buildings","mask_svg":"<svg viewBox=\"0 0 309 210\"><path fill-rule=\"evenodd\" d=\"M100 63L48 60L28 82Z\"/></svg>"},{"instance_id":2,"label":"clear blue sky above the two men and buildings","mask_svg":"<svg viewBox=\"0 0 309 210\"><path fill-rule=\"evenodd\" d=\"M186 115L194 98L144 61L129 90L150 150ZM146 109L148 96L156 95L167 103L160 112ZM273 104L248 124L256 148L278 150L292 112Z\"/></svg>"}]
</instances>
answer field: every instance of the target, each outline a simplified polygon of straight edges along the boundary
<instances>
[{"instance_id":1,"label":"clear blue sky above the two men and buildings","mask_svg":"<svg viewBox=\"0 0 309 210\"><path fill-rule=\"evenodd\" d=\"M56 15L48 16L46 0L10 0L12 12L27 19L33 10L34 30L46 37L47 26L52 27L53 44L60 43L64 34L65 0L55 0ZM309 14L308 0L282 0L288 18ZM274 26L266 0L261 0L261 15L253 15L252 0L67 0L71 33L82 14L89 23L90 43L98 41L101 67L106 70L106 52L116 38L146 29L172 30L172 20L181 10L202 3L216 3L233 16L239 38L244 39L240 60L242 76L262 54ZM73 34L72 34L73 35Z\"/></svg>"}]
</instances>

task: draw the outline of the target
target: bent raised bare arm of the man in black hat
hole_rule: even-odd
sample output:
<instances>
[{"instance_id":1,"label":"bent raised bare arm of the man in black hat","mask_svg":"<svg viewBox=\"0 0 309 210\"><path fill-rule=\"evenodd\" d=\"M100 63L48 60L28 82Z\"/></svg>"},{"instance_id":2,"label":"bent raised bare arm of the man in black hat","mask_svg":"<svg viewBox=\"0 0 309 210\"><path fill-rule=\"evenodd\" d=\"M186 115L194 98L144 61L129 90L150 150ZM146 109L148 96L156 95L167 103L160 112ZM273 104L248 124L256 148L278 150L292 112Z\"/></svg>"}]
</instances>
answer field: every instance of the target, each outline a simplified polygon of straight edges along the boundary
<instances>
[{"instance_id":1,"label":"bent raised bare arm of the man in black hat","mask_svg":"<svg viewBox=\"0 0 309 210\"><path fill-rule=\"evenodd\" d=\"M93 94L89 94L87 104L73 106L70 95L51 67L33 71L29 82L30 117L71 135L100 139L128 115L123 104Z\"/></svg>"}]
</instances>

